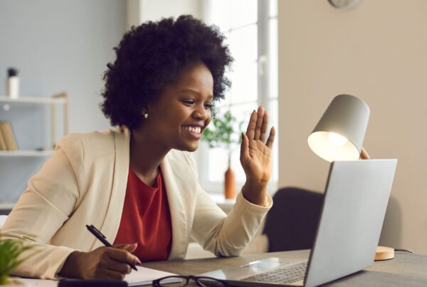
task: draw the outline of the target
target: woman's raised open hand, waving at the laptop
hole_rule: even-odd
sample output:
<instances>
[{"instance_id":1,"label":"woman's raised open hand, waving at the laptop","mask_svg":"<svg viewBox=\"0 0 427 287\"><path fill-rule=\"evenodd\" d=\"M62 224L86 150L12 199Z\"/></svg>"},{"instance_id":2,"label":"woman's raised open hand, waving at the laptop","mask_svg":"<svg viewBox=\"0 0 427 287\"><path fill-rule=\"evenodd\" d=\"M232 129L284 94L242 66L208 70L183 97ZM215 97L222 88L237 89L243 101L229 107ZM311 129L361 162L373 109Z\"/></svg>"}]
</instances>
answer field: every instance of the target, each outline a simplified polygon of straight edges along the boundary
<instances>
[{"instance_id":1,"label":"woman's raised open hand, waving at the laptop","mask_svg":"<svg viewBox=\"0 0 427 287\"><path fill-rule=\"evenodd\" d=\"M271 149L275 129L271 127L268 139L265 133L268 127L268 115L262 106L251 114L246 135L242 135L241 165L246 174L243 196L253 204L265 206L268 180L271 177Z\"/></svg>"}]
</instances>

